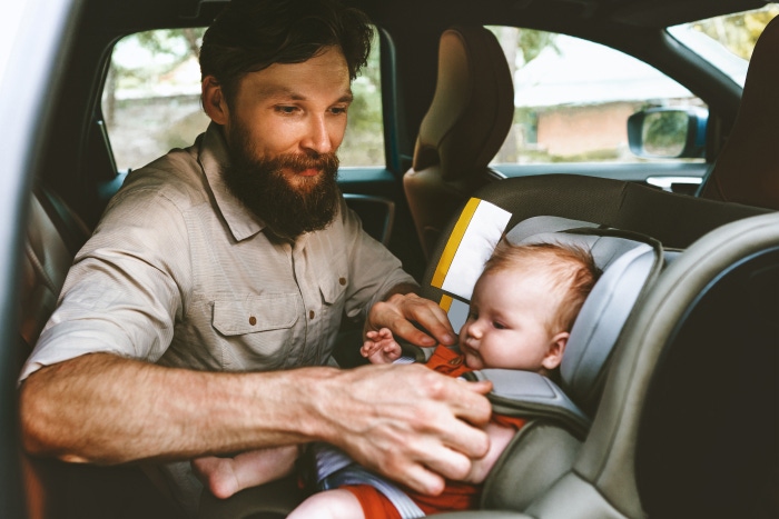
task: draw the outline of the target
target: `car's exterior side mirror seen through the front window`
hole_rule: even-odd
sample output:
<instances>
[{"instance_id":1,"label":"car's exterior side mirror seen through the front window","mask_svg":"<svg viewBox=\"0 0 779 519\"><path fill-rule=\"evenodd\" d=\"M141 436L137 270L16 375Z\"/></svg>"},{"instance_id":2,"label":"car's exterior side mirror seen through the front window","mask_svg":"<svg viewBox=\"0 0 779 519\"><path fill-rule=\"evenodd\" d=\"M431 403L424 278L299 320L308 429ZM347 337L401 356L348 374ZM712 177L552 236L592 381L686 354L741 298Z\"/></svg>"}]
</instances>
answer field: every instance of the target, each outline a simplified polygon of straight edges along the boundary
<instances>
[{"instance_id":1,"label":"car's exterior side mirror seen through the front window","mask_svg":"<svg viewBox=\"0 0 779 519\"><path fill-rule=\"evenodd\" d=\"M697 107L650 108L628 118L628 143L637 157L697 159L706 153L709 112Z\"/></svg>"}]
</instances>

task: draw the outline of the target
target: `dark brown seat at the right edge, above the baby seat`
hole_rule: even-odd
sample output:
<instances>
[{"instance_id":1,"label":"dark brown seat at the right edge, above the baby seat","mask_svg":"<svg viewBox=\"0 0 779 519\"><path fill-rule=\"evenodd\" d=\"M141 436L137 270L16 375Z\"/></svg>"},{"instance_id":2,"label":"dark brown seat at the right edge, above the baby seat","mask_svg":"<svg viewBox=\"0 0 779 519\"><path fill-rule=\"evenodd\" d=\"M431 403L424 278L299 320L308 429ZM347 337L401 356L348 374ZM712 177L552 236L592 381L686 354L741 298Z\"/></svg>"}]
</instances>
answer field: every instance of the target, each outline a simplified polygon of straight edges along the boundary
<instances>
[{"instance_id":1,"label":"dark brown seat at the right edge, above the baby seat","mask_svg":"<svg viewBox=\"0 0 779 519\"><path fill-rule=\"evenodd\" d=\"M713 200L779 209L779 19L755 46L741 106L724 147L700 189Z\"/></svg>"}]
</instances>

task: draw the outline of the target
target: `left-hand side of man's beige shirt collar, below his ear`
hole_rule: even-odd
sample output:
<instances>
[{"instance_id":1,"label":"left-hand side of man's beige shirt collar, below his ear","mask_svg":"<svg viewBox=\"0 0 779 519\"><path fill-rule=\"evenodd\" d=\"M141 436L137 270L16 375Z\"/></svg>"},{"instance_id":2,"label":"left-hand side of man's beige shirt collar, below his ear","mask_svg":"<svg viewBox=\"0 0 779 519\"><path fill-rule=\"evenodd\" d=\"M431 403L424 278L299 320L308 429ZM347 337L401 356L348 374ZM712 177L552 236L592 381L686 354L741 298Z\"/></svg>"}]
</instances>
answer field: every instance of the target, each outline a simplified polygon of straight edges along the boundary
<instances>
[{"instance_id":1,"label":"left-hand side of man's beige shirt collar, below his ear","mask_svg":"<svg viewBox=\"0 0 779 519\"><path fill-rule=\"evenodd\" d=\"M223 170L229 164L229 151L221 127L211 122L200 141L198 161L214 193L217 208L236 241L253 237L265 228L265 222L249 211L227 188Z\"/></svg>"}]
</instances>

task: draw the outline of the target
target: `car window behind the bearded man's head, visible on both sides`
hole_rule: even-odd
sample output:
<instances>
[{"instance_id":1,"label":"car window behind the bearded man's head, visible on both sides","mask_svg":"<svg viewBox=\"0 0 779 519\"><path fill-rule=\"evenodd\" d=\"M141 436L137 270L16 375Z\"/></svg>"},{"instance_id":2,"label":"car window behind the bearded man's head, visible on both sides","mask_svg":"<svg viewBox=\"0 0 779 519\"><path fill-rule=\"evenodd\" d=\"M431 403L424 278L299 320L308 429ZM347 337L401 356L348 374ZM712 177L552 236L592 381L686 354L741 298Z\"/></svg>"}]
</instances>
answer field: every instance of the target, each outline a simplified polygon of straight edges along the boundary
<instances>
[{"instance_id":1,"label":"car window behind the bearded man's head, visible on both sides","mask_svg":"<svg viewBox=\"0 0 779 519\"><path fill-rule=\"evenodd\" d=\"M186 147L208 126L200 107L197 56L205 29L130 34L114 48L102 113L119 171L137 169L171 148ZM342 166L382 166L384 131L378 39L354 81Z\"/></svg>"}]
</instances>

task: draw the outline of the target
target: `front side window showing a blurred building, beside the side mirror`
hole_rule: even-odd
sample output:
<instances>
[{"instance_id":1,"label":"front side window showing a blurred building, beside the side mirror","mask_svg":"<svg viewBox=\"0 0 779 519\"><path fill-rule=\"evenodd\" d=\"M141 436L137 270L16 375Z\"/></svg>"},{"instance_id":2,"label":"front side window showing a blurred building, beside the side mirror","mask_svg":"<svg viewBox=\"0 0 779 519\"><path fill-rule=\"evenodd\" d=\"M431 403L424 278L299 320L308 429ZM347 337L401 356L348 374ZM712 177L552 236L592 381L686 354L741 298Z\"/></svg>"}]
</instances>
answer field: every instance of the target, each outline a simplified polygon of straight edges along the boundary
<instances>
[{"instance_id":1,"label":"front side window showing a blurred building, beside the side mirror","mask_svg":"<svg viewBox=\"0 0 779 519\"><path fill-rule=\"evenodd\" d=\"M706 107L677 81L614 49L552 32L490 29L512 70L515 106L493 166L661 160L631 153L628 118L649 108Z\"/></svg>"}]
</instances>

